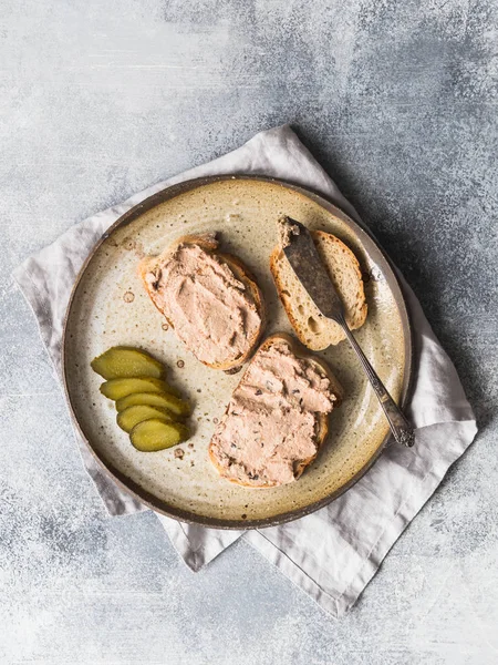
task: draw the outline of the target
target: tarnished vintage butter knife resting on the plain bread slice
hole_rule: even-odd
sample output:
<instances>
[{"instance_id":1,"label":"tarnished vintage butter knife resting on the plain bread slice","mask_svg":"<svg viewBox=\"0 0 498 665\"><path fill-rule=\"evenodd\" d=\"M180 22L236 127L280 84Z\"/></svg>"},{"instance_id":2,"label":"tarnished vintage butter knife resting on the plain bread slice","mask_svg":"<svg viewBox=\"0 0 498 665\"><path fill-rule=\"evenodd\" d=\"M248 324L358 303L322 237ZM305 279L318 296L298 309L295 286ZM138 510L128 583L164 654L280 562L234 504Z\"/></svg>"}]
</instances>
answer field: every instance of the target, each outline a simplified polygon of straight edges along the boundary
<instances>
[{"instance_id":1,"label":"tarnished vintage butter knife resting on the plain bread slice","mask_svg":"<svg viewBox=\"0 0 498 665\"><path fill-rule=\"evenodd\" d=\"M310 232L290 217L280 221L280 232L283 253L310 298L325 318L332 319L344 330L347 341L353 347L381 407L384 409L394 439L397 443L411 448L415 443L413 427L387 392L351 332L344 318L342 300L320 258Z\"/></svg>"}]
</instances>

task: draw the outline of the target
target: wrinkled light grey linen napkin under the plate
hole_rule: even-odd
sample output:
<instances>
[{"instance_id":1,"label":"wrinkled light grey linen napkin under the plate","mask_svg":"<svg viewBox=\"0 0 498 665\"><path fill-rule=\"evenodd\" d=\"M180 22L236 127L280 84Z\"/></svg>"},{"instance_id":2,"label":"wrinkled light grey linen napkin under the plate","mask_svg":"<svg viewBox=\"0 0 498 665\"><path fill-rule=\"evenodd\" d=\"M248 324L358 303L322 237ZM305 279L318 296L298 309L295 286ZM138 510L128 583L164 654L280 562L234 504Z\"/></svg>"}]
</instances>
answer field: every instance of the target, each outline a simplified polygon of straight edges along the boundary
<instances>
[{"instance_id":1,"label":"wrinkled light grey linen napkin under the plate","mask_svg":"<svg viewBox=\"0 0 498 665\"><path fill-rule=\"evenodd\" d=\"M71 227L13 273L33 309L58 376L61 335L72 284L92 246L123 213L151 194L193 177L252 173L311 187L359 221L357 213L288 126L257 134L242 147L135 194L121 205ZM339 617L356 601L408 522L433 494L448 468L471 443L473 410L452 361L421 305L402 278L414 324L414 392L408 416L413 449L390 446L369 473L320 511L282 526L248 532L183 524L158 515L173 544L194 571L242 536L284 575ZM146 510L104 475L75 433L83 462L112 515Z\"/></svg>"}]
</instances>

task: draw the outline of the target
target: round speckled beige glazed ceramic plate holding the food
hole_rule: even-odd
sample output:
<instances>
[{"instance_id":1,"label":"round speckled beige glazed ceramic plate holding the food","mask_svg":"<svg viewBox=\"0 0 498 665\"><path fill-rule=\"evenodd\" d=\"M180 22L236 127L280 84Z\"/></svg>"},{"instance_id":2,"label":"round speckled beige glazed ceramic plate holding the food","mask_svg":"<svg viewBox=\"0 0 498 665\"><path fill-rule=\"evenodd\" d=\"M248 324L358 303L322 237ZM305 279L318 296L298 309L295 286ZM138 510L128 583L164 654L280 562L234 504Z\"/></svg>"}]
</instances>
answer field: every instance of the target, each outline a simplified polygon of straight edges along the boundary
<instances>
[{"instance_id":1,"label":"round speckled beige glazed ceramic plate holding the food","mask_svg":"<svg viewBox=\"0 0 498 665\"><path fill-rule=\"evenodd\" d=\"M169 187L137 205L104 235L75 284L64 329L65 389L83 438L107 472L156 511L187 522L228 529L286 522L321 508L349 489L380 456L387 422L346 342L320 354L341 381L345 400L330 418L317 460L289 485L255 490L219 478L207 454L215 423L240 379L201 365L179 342L137 276L144 255L186 234L218 232L221 247L253 272L268 308L266 334L292 332L269 270L276 219L288 214L344 241L365 276L369 316L356 331L393 397L406 398L412 367L408 316L396 277L372 237L331 203L274 180L219 176ZM114 405L90 361L115 345L138 346L165 362L169 379L194 402L194 437L175 449L135 450L116 424Z\"/></svg>"}]
</instances>

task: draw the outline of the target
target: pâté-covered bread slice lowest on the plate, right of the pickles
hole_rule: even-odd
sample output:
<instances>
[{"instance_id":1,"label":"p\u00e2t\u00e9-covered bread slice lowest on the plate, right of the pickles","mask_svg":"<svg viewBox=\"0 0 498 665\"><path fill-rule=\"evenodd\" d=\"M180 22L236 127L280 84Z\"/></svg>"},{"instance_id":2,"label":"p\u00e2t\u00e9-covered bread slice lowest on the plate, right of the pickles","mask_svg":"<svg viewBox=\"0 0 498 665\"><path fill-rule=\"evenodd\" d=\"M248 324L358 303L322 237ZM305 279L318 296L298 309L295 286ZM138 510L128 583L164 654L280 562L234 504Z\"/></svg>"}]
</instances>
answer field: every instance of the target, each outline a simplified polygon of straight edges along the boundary
<instances>
[{"instance_id":1,"label":"p\u00e2t\u00e9-covered bread slice lowest on the plate, right of the pickles","mask_svg":"<svg viewBox=\"0 0 498 665\"><path fill-rule=\"evenodd\" d=\"M270 350L277 360L269 359ZM342 388L321 358L302 351L292 337L278 334L255 354L209 443L209 458L226 480L247 488L278 487L299 479L315 459L329 432L329 412L342 401ZM283 371L277 376L271 369L279 355ZM252 371L258 365L262 370ZM291 371L283 376L286 366ZM281 393L273 392L273 383L281 385ZM310 410L314 390L326 405L323 410ZM270 440L272 436L281 439Z\"/></svg>"}]
</instances>

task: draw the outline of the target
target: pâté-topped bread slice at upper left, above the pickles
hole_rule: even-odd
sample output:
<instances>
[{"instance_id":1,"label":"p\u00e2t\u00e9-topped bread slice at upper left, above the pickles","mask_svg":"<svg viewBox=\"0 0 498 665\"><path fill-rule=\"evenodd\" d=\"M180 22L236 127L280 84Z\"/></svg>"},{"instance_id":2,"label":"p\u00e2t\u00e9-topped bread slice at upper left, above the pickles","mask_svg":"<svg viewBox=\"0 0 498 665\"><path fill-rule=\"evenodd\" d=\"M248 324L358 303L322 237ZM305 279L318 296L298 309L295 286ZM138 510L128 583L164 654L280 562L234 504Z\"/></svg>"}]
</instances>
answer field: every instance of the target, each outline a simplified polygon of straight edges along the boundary
<instances>
[{"instance_id":1,"label":"p\u00e2t\u00e9-topped bread slice at upper left, above the pickles","mask_svg":"<svg viewBox=\"0 0 498 665\"><path fill-rule=\"evenodd\" d=\"M218 250L214 234L179 238L139 272L154 305L198 360L227 370L248 359L264 325L261 291L238 258Z\"/></svg>"}]
</instances>

